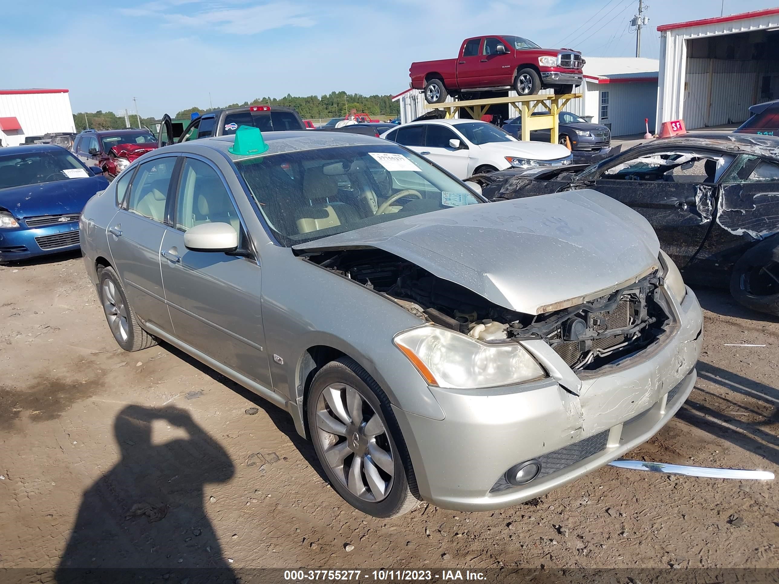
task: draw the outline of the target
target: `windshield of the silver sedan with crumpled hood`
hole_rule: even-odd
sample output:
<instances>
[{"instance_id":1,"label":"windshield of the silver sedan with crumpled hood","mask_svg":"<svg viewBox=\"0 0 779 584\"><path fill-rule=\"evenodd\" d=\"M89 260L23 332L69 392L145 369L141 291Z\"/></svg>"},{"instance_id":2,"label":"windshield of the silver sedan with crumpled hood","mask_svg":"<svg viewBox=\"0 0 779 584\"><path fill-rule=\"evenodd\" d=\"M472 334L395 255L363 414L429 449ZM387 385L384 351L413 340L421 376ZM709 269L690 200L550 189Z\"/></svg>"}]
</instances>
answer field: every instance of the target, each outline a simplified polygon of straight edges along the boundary
<instances>
[{"instance_id":1,"label":"windshield of the silver sedan with crumpled hood","mask_svg":"<svg viewBox=\"0 0 779 584\"><path fill-rule=\"evenodd\" d=\"M235 161L282 245L483 202L400 146L340 146Z\"/></svg>"}]
</instances>

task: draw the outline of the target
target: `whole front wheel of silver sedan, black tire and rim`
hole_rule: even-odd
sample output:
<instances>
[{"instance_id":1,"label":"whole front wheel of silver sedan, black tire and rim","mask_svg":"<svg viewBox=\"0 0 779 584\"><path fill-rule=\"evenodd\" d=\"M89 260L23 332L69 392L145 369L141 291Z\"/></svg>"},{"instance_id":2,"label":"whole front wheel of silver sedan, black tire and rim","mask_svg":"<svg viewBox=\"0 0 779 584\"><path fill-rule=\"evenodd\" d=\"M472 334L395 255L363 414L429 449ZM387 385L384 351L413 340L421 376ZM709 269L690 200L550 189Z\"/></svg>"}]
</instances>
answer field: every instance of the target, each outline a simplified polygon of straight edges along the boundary
<instances>
[{"instance_id":1,"label":"whole front wheel of silver sedan, black tire and rim","mask_svg":"<svg viewBox=\"0 0 779 584\"><path fill-rule=\"evenodd\" d=\"M356 361L342 357L321 368L306 406L316 456L347 503L384 518L419 504L411 459L390 400Z\"/></svg>"}]
</instances>

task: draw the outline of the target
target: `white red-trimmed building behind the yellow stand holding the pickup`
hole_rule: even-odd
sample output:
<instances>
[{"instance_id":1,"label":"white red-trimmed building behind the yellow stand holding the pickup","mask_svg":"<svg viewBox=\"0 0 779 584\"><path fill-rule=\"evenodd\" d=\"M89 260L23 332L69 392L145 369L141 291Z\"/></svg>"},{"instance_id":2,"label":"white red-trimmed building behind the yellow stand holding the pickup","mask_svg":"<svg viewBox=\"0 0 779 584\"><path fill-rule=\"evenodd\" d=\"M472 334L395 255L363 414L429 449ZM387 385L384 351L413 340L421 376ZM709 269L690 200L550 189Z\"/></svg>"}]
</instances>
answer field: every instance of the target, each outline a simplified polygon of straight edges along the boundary
<instances>
[{"instance_id":1,"label":"white red-trimmed building behind the yellow stand holding the pickup","mask_svg":"<svg viewBox=\"0 0 779 584\"><path fill-rule=\"evenodd\" d=\"M571 100L566 111L607 125L612 135L643 134L644 119L654 128L657 109L657 59L633 57L587 57L582 97ZM552 93L543 90L541 93ZM513 91L509 96L516 96ZM405 124L425 113L425 96L408 89L393 97L400 101L400 122ZM447 98L446 101L452 101ZM537 109L540 110L539 107ZM509 116L519 115L509 107Z\"/></svg>"}]
</instances>

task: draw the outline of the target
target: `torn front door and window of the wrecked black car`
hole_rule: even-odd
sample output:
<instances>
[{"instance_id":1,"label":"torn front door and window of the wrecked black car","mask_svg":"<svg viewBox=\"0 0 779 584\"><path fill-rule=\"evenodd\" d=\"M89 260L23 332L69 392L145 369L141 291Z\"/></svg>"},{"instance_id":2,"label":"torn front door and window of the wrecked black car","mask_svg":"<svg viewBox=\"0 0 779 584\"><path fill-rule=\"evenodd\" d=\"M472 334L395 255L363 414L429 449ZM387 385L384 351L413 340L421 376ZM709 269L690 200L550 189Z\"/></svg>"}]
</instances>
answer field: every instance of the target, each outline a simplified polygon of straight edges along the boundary
<instances>
[{"instance_id":1,"label":"torn front door and window of the wrecked black car","mask_svg":"<svg viewBox=\"0 0 779 584\"><path fill-rule=\"evenodd\" d=\"M602 169L593 188L645 216L661 248L682 269L711 227L716 192L714 177L707 175L707 160L702 154L664 151L659 145Z\"/></svg>"}]
</instances>

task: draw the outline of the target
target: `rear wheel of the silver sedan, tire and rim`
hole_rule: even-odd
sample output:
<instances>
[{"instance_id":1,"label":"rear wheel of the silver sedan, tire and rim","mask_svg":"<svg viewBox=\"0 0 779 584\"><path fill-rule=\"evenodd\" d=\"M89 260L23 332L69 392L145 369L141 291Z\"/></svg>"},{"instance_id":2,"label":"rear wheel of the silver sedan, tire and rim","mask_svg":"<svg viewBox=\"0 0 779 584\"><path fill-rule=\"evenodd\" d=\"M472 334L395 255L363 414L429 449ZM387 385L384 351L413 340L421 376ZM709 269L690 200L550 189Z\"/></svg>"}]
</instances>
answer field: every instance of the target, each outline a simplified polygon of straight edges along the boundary
<instances>
[{"instance_id":1,"label":"rear wheel of the silver sedan, tire and rim","mask_svg":"<svg viewBox=\"0 0 779 584\"><path fill-rule=\"evenodd\" d=\"M98 280L100 304L103 304L108 328L111 329L119 347L132 353L156 345L157 339L139 325L136 311L127 301L122 280L114 269L111 267L102 269Z\"/></svg>"}]
</instances>

